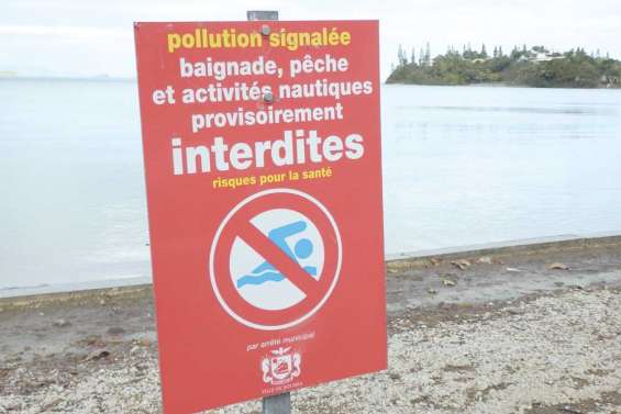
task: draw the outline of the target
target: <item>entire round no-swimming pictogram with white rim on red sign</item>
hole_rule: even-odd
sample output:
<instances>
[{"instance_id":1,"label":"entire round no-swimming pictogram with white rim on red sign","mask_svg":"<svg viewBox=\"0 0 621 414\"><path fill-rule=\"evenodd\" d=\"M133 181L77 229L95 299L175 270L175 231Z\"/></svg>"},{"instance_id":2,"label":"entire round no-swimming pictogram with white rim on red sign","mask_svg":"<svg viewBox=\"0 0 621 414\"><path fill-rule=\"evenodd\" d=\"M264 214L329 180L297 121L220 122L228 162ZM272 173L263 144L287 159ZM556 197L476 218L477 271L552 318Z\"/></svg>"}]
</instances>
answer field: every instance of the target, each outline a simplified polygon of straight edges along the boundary
<instances>
[{"instance_id":1,"label":"entire round no-swimming pictogram with white rim on red sign","mask_svg":"<svg viewBox=\"0 0 621 414\"><path fill-rule=\"evenodd\" d=\"M330 298L342 261L334 219L292 189L255 193L220 224L209 256L211 284L237 322L265 331L293 326Z\"/></svg>"}]
</instances>

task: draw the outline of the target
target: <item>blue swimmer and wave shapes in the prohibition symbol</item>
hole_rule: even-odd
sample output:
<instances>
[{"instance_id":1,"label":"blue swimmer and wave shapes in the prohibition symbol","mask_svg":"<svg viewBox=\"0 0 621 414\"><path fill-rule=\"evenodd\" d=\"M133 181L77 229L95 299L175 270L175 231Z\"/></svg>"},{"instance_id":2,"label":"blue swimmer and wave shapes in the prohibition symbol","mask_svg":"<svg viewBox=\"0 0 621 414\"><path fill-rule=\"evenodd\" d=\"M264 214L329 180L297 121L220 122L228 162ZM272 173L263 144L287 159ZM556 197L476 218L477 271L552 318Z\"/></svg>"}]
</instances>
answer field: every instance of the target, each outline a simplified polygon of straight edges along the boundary
<instances>
[{"instance_id":1,"label":"blue swimmer and wave shapes in the prohibition symbol","mask_svg":"<svg viewBox=\"0 0 621 414\"><path fill-rule=\"evenodd\" d=\"M291 251L289 244L287 243L287 238L303 232L307 228L307 223L303 221L293 222L290 224L286 224L280 227L276 227L271 230L267 237L276 246L280 248L280 250L285 251L287 256L293 259L296 262L299 264L299 259L308 258L313 250L312 242L308 238L301 238L296 243L293 247L295 251ZM304 266L304 271L311 276L317 276L317 267L314 266ZM285 279L285 276L276 270L270 262L264 261L263 264L258 265L251 275L244 275L240 279L237 279L237 288L242 288L245 284L263 284L267 281L279 282Z\"/></svg>"}]
</instances>

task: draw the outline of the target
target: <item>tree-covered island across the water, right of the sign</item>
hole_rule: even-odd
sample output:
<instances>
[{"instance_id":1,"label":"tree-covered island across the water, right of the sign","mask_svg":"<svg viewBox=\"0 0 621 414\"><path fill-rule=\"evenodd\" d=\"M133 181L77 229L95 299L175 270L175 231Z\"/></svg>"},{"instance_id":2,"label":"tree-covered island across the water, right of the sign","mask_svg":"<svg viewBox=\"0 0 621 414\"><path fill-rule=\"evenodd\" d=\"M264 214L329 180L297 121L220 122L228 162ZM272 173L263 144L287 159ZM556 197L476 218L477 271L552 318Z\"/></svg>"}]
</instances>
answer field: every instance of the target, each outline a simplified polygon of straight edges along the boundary
<instances>
[{"instance_id":1,"label":"tree-covered island across the water, right of the sign","mask_svg":"<svg viewBox=\"0 0 621 414\"><path fill-rule=\"evenodd\" d=\"M418 57L410 57L399 46L398 64L387 83L411 85L485 85L533 88L621 88L621 61L600 52L584 48L550 52L544 46L513 47L506 54L495 47L488 54L485 44L480 51L464 46L462 52L450 47L444 55L431 58L430 46Z\"/></svg>"}]
</instances>

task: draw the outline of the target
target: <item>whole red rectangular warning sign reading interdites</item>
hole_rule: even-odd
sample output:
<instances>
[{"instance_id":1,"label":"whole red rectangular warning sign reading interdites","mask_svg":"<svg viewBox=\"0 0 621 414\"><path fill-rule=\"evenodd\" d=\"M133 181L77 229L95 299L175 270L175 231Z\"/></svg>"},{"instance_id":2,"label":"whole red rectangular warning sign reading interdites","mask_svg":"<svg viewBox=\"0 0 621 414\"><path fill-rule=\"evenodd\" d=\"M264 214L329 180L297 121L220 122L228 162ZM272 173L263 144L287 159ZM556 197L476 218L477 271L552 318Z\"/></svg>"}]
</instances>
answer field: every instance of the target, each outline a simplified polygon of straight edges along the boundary
<instances>
[{"instance_id":1,"label":"whole red rectangular warning sign reading interdites","mask_svg":"<svg viewBox=\"0 0 621 414\"><path fill-rule=\"evenodd\" d=\"M378 22L135 43L164 410L385 369Z\"/></svg>"}]
</instances>

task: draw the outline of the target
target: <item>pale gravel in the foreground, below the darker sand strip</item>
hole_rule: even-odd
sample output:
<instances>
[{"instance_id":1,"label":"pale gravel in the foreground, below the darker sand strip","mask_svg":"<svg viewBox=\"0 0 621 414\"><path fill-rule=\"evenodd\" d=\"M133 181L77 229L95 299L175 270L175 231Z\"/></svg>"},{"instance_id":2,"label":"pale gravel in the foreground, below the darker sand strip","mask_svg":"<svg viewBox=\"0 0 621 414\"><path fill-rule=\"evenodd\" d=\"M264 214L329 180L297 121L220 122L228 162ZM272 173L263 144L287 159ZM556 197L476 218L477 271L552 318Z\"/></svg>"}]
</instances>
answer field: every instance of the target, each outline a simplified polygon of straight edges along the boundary
<instances>
[{"instance_id":1,"label":"pale gravel in the foreground, below the darker sand strip","mask_svg":"<svg viewBox=\"0 0 621 414\"><path fill-rule=\"evenodd\" d=\"M621 413L619 290L568 290L431 327L397 315L391 326L388 371L295 392L293 413ZM76 356L76 371L4 359L0 413L158 413L156 349L134 340ZM259 412L257 401L212 411Z\"/></svg>"}]
</instances>

